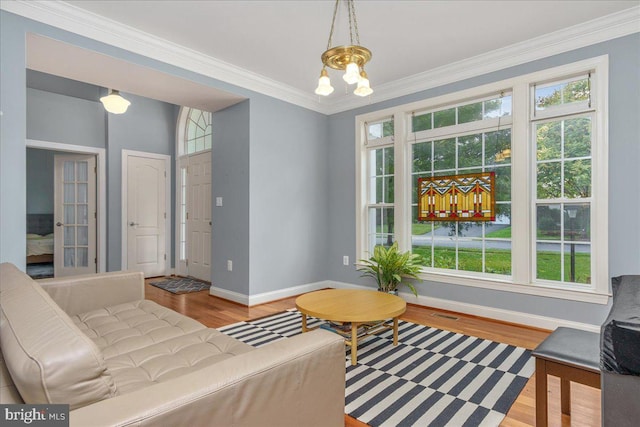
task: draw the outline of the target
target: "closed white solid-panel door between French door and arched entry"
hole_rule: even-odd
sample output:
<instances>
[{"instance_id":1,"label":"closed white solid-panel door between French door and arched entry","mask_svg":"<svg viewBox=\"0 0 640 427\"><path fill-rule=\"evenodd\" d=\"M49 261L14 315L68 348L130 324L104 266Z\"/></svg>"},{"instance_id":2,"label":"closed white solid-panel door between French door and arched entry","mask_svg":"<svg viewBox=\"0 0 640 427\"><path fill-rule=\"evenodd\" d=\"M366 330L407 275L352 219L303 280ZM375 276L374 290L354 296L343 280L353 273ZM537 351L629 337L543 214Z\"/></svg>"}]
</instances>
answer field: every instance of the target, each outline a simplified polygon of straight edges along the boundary
<instances>
[{"instance_id":1,"label":"closed white solid-panel door between French door and arched entry","mask_svg":"<svg viewBox=\"0 0 640 427\"><path fill-rule=\"evenodd\" d=\"M129 155L126 168L126 268L142 271L145 277L162 276L167 259L166 163Z\"/></svg>"}]
</instances>

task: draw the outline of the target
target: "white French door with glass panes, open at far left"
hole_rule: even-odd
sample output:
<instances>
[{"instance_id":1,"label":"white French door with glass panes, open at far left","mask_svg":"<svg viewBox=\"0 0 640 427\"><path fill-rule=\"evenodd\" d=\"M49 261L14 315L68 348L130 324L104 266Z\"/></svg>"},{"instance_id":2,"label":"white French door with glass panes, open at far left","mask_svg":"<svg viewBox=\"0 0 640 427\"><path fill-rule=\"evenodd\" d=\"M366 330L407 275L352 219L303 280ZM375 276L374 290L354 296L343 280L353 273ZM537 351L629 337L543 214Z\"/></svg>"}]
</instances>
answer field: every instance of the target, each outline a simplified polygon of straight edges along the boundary
<instances>
[{"instance_id":1,"label":"white French door with glass panes, open at far left","mask_svg":"<svg viewBox=\"0 0 640 427\"><path fill-rule=\"evenodd\" d=\"M54 156L54 276L96 272L96 158Z\"/></svg>"}]
</instances>

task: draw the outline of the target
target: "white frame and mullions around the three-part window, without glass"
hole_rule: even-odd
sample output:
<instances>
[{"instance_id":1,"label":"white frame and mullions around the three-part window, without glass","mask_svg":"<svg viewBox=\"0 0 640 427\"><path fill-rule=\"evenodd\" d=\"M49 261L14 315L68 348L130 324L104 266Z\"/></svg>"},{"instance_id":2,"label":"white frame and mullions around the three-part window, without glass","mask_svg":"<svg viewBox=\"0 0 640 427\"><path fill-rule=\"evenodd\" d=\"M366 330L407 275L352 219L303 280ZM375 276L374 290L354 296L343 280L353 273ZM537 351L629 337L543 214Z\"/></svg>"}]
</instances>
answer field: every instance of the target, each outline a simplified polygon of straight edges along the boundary
<instances>
[{"instance_id":1,"label":"white frame and mullions around the three-part window, without glass","mask_svg":"<svg viewBox=\"0 0 640 427\"><path fill-rule=\"evenodd\" d=\"M423 270L420 277L430 282L451 283L485 289L495 289L551 298L606 304L609 291L609 242L608 242L608 55L586 59L507 80L450 93L423 101L387 108L356 116L356 258L366 259L367 254L367 133L365 124L394 117L395 156L395 239L401 250L411 249L411 141L408 141L411 113L455 106L464 100L475 100L492 93L509 91L512 94L511 125L511 277L489 277L466 274L464 271ZM532 118L534 100L531 87L564 78L573 78L592 72L591 109L592 123L592 283L584 286L535 282L535 144L532 142ZM557 112L557 111L556 111ZM555 115L555 112L554 112ZM540 119L540 111L536 119ZM518 143L526 141L526 144ZM372 141L369 141L371 144ZM382 145L382 144L381 144ZM517 212L517 214L513 214ZM533 241L532 241L533 240ZM595 262L595 260L598 260ZM560 288L559 286L562 286Z\"/></svg>"}]
</instances>

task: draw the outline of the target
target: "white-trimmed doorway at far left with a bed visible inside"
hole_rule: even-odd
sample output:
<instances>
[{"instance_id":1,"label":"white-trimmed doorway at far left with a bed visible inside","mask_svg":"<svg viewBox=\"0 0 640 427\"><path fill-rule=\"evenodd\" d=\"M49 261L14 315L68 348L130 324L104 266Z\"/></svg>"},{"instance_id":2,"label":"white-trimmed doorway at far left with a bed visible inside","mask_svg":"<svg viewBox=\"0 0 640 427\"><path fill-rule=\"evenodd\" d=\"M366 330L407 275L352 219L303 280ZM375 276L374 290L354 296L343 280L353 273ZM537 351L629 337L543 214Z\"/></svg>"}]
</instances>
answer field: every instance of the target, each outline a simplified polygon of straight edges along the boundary
<instances>
[{"instance_id":1,"label":"white-trimmed doorway at far left with a bed visible inside","mask_svg":"<svg viewBox=\"0 0 640 427\"><path fill-rule=\"evenodd\" d=\"M27 237L32 236L36 238L36 242L39 247L34 252L34 257L27 256L27 273L33 274L36 278L52 277L57 275L70 275L81 274L85 267L89 272L105 272L106 271L106 151L104 148L88 147L72 144L64 144L50 141L40 141L28 139L26 141L27 148ZM67 270L64 271L64 195L59 193L59 198L62 203L58 203L58 210L62 212L56 212L54 208L56 206L55 192L55 156L72 156L78 159L80 156L91 163L91 166L87 164L87 179L82 181L76 177L78 165L74 164L74 180L68 182L67 187L70 189L74 187L74 202L67 202L67 218L71 219L71 211L74 211L73 222L67 230L67 264L70 264L73 258L74 266L78 260L84 264L84 259L87 260L87 265L83 268L73 268L67 265ZM75 161L75 160L74 160ZM82 160L81 160L82 161ZM63 166L64 167L64 166ZM79 166L84 168L84 166ZM68 166L70 168L70 166ZM89 177L89 172L92 173L92 177ZM64 172L63 172L64 173ZM69 169L70 173L70 169ZM84 174L84 169L80 171ZM84 175L83 175L84 176ZM64 176L63 176L64 180ZM81 184L81 185L78 185ZM81 192L80 197L84 200L84 185L87 188L87 203L78 202L76 200L78 191ZM64 183L62 184L64 189ZM67 195L67 200L70 200L71 194ZM73 207L71 206L73 204ZM85 209L86 209L86 221L85 224ZM80 217L78 217L80 214ZM54 219L55 218L55 219ZM80 220L81 222L77 222ZM61 223L61 226L56 226L57 222ZM91 224L90 224L91 223ZM73 227L73 228L71 228ZM86 227L86 228L85 228ZM91 231L89 231L91 228ZM73 231L72 231L73 230ZM79 235L77 233L80 233ZM73 235L72 235L73 233ZM58 249L58 256L54 257L55 248L55 235L62 236L61 249ZM40 236L40 237L39 237ZM43 238L41 238L43 237ZM72 238L73 237L73 244ZM86 237L86 240L85 240ZM40 239L40 242L37 240ZM80 240L78 240L80 239ZM43 249L42 245L47 244L47 249ZM29 246L27 239L27 246ZM86 249L86 252L85 252ZM27 249L28 250L28 249ZM73 250L73 255L71 254ZM39 251L39 252L38 252ZM48 255L44 255L46 252ZM29 252L28 252L29 254ZM40 255L42 256L40 256ZM44 259L45 257L46 259ZM55 258L62 260L62 268L60 273L54 272ZM45 265L46 264L46 265ZM81 267L78 265L77 267Z\"/></svg>"}]
</instances>

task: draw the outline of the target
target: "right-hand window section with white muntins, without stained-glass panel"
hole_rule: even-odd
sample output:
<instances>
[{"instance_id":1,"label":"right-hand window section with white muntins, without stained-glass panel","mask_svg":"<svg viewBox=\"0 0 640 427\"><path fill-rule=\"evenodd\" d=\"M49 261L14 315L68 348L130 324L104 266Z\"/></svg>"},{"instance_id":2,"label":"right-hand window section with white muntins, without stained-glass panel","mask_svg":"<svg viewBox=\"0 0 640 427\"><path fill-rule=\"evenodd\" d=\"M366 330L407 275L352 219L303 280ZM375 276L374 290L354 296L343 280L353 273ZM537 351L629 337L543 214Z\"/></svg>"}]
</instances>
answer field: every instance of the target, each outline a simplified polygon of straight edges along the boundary
<instances>
[{"instance_id":1,"label":"right-hand window section with white muntins, without stained-glass panel","mask_svg":"<svg viewBox=\"0 0 640 427\"><path fill-rule=\"evenodd\" d=\"M590 76L533 87L536 280L591 283ZM543 111L543 119L536 115Z\"/></svg>"}]
</instances>

